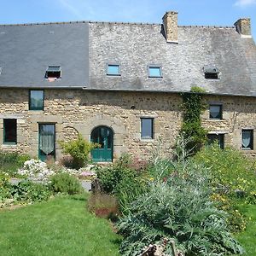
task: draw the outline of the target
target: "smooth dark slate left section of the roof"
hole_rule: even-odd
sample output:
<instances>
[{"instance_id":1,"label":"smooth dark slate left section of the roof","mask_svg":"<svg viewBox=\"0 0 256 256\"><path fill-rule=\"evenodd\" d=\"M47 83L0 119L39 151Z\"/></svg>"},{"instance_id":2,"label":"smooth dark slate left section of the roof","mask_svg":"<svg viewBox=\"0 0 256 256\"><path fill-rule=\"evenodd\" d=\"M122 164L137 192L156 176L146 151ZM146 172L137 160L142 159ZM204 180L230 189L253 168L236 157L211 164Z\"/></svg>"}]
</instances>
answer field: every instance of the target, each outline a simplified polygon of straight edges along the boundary
<instances>
[{"instance_id":1,"label":"smooth dark slate left section of the roof","mask_svg":"<svg viewBox=\"0 0 256 256\"><path fill-rule=\"evenodd\" d=\"M88 23L0 26L0 87L83 87L89 79ZM49 83L49 65L63 76Z\"/></svg>"}]
</instances>

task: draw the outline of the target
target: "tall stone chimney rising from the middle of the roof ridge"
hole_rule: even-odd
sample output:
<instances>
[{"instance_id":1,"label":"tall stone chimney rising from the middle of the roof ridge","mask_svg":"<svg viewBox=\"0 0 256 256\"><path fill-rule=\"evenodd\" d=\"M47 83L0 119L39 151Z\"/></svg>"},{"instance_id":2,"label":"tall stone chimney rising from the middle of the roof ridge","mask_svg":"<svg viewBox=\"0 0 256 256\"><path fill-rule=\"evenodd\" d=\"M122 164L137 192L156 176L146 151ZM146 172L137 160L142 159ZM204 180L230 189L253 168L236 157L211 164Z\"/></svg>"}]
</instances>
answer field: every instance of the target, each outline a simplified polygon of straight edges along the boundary
<instances>
[{"instance_id":1,"label":"tall stone chimney rising from the middle of the roof ridge","mask_svg":"<svg viewBox=\"0 0 256 256\"><path fill-rule=\"evenodd\" d=\"M163 25L166 34L166 42L177 44L177 12L166 12L163 17Z\"/></svg>"}]
</instances>

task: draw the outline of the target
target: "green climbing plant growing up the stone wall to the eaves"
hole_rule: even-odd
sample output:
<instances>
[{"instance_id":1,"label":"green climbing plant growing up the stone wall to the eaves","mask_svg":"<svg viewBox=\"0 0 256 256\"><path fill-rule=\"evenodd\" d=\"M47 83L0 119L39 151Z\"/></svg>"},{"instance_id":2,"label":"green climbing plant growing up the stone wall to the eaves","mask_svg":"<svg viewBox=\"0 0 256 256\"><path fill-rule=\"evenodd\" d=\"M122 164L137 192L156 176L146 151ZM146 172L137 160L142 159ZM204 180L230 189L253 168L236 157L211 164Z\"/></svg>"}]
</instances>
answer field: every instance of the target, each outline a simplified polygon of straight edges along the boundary
<instances>
[{"instance_id":1,"label":"green climbing plant growing up the stone wall to the eaves","mask_svg":"<svg viewBox=\"0 0 256 256\"><path fill-rule=\"evenodd\" d=\"M181 134L190 140L187 147L190 151L197 152L206 143L207 131L201 127L201 112L206 108L202 100L199 87L192 87L191 92L182 93L183 96L183 125Z\"/></svg>"}]
</instances>

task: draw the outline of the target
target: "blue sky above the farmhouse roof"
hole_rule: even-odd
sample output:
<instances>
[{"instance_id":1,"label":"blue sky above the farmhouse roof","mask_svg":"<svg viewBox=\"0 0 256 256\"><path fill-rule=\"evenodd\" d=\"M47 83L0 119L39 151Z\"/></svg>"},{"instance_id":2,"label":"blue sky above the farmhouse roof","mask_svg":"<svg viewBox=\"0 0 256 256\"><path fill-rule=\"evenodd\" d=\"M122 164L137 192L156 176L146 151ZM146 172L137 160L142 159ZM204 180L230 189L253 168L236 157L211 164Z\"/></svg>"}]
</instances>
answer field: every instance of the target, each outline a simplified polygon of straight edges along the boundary
<instances>
[{"instance_id":1,"label":"blue sky above the farmhouse roof","mask_svg":"<svg viewBox=\"0 0 256 256\"><path fill-rule=\"evenodd\" d=\"M232 26L251 17L256 41L256 0L0 0L0 23L102 20L160 23L167 10L179 25Z\"/></svg>"}]
</instances>

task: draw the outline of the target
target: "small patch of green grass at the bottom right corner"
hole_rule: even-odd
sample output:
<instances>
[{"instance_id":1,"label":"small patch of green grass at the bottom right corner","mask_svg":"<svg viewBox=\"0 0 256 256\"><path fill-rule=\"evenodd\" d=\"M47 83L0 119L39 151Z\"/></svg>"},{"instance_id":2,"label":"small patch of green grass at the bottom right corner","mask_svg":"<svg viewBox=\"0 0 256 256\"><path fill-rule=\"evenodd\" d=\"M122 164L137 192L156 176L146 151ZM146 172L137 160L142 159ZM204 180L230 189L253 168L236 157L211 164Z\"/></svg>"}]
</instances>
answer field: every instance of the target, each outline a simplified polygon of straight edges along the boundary
<instances>
[{"instance_id":1,"label":"small patch of green grass at the bottom right corner","mask_svg":"<svg viewBox=\"0 0 256 256\"><path fill-rule=\"evenodd\" d=\"M245 248L247 256L256 255L256 206L247 207L247 217L251 218L247 224L247 230L239 233L236 238L241 242L241 246Z\"/></svg>"}]
</instances>

